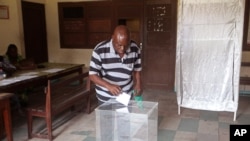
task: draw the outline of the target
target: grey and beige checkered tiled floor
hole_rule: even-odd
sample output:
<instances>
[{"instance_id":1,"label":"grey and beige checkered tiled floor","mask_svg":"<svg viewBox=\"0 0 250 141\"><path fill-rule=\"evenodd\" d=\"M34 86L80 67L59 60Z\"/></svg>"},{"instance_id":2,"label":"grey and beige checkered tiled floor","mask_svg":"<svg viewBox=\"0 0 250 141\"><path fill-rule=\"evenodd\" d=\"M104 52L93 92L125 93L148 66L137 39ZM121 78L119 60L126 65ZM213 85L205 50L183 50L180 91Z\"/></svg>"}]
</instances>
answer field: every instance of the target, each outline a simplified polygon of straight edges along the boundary
<instances>
[{"instance_id":1,"label":"grey and beige checkered tiled floor","mask_svg":"<svg viewBox=\"0 0 250 141\"><path fill-rule=\"evenodd\" d=\"M235 122L232 112L181 108L181 114L178 115L174 93L147 90L144 100L159 102L158 141L229 141L230 124L250 124L250 96L240 96ZM13 118L14 141L27 141L25 117ZM41 122L36 123L39 124ZM54 141L95 141L95 112L78 113L56 128L53 135ZM33 138L30 141L45 140Z\"/></svg>"}]
</instances>

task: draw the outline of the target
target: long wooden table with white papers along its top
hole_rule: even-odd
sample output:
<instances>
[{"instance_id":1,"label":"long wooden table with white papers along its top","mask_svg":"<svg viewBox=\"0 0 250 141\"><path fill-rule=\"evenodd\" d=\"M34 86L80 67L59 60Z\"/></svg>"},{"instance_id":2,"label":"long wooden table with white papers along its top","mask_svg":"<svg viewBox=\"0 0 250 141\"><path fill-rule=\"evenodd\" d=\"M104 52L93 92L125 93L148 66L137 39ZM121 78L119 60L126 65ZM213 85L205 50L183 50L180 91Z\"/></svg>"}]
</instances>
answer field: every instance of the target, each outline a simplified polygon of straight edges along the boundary
<instances>
[{"instance_id":1,"label":"long wooden table with white papers along its top","mask_svg":"<svg viewBox=\"0 0 250 141\"><path fill-rule=\"evenodd\" d=\"M0 80L0 92L16 92L26 87L46 85L47 80L57 79L73 73L82 73L84 64L42 63L44 68L22 70L11 77Z\"/></svg>"}]
</instances>

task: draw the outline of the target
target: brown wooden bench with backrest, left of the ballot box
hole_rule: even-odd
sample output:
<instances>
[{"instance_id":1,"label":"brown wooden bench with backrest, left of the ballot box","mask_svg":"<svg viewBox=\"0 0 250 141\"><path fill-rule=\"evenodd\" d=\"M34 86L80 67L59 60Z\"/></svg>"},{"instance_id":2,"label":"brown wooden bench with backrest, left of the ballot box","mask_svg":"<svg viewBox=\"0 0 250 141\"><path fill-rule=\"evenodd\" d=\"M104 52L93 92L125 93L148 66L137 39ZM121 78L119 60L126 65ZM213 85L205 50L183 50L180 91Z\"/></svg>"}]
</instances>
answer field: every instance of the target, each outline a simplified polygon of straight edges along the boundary
<instances>
[{"instance_id":1,"label":"brown wooden bench with backrest, left of the ballot box","mask_svg":"<svg viewBox=\"0 0 250 141\"><path fill-rule=\"evenodd\" d=\"M38 137L53 140L52 117L67 109L74 108L75 104L81 100L82 104L87 104L87 112L90 113L90 96L93 91L94 89L90 88L88 72L67 77L59 82L48 80L44 100L39 99L35 102L36 104L27 108L28 138ZM33 117L45 118L47 133L34 133Z\"/></svg>"}]
</instances>

